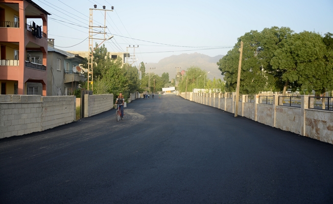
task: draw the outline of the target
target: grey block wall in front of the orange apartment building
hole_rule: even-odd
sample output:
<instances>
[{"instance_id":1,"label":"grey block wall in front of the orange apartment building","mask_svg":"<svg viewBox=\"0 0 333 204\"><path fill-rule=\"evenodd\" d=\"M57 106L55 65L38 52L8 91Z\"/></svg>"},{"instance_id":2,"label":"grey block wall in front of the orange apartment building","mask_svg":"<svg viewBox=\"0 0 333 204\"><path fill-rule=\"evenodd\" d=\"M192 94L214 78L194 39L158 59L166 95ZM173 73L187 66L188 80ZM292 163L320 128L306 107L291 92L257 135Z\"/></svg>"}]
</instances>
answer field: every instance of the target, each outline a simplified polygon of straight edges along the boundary
<instances>
[{"instance_id":1,"label":"grey block wall in front of the orange apartment building","mask_svg":"<svg viewBox=\"0 0 333 204\"><path fill-rule=\"evenodd\" d=\"M0 95L0 138L75 121L75 96Z\"/></svg>"}]
</instances>

